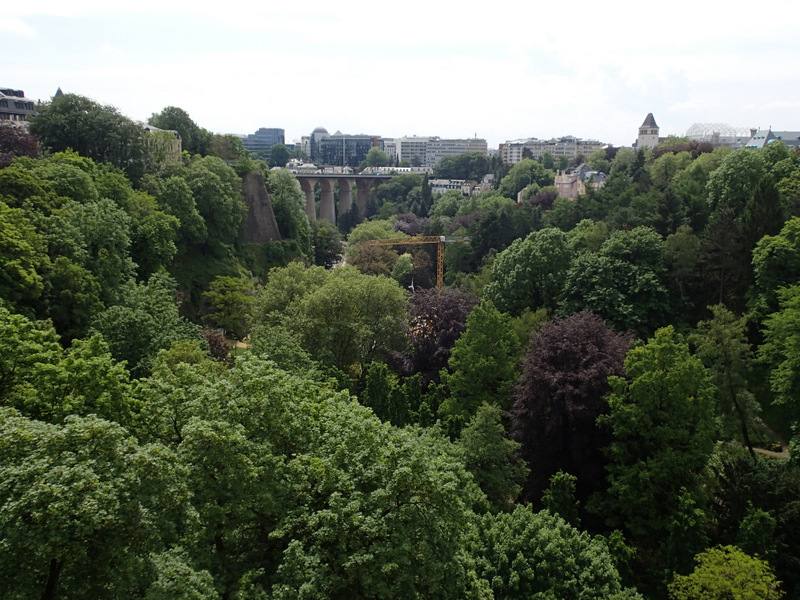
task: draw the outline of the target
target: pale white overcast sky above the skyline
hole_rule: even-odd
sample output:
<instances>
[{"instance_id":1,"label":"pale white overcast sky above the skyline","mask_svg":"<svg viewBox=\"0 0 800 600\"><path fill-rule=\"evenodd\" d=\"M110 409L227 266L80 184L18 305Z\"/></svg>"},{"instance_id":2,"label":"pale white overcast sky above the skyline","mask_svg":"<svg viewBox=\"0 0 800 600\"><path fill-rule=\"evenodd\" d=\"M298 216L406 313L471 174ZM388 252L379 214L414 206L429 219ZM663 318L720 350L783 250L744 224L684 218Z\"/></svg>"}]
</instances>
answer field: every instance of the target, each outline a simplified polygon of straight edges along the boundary
<instances>
[{"instance_id":1,"label":"pale white overcast sky above the skyline","mask_svg":"<svg viewBox=\"0 0 800 600\"><path fill-rule=\"evenodd\" d=\"M288 142L323 126L630 145L648 112L662 136L800 130L798 0L114 4L4 3L0 87Z\"/></svg>"}]
</instances>

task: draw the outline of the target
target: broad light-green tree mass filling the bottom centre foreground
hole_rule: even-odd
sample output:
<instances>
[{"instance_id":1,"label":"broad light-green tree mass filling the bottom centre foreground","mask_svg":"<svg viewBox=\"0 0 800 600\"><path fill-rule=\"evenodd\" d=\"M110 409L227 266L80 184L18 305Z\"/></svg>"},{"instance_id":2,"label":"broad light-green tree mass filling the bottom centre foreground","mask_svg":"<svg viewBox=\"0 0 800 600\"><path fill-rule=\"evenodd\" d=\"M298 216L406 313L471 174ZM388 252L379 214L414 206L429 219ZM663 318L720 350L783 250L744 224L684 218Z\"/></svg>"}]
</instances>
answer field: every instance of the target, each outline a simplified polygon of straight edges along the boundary
<instances>
[{"instance_id":1,"label":"broad light-green tree mass filling the bottom centre foreground","mask_svg":"<svg viewBox=\"0 0 800 600\"><path fill-rule=\"evenodd\" d=\"M464 543L485 500L435 431L382 424L249 355L217 374L162 363L140 390L193 490L182 562L220 594L469 595Z\"/></svg>"}]
</instances>

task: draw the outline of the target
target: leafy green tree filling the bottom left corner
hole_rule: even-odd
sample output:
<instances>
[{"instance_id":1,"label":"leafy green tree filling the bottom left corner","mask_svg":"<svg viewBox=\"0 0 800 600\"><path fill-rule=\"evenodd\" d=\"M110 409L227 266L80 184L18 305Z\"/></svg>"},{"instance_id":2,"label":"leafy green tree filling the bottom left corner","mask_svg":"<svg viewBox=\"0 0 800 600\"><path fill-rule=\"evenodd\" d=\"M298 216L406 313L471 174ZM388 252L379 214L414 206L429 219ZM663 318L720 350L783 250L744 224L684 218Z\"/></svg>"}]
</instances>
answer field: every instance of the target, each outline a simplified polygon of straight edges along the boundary
<instances>
[{"instance_id":1,"label":"leafy green tree filling the bottom left corner","mask_svg":"<svg viewBox=\"0 0 800 600\"><path fill-rule=\"evenodd\" d=\"M142 560L161 548L157 515L181 493L174 462L95 416L52 425L0 409L4 595L139 597Z\"/></svg>"}]
</instances>

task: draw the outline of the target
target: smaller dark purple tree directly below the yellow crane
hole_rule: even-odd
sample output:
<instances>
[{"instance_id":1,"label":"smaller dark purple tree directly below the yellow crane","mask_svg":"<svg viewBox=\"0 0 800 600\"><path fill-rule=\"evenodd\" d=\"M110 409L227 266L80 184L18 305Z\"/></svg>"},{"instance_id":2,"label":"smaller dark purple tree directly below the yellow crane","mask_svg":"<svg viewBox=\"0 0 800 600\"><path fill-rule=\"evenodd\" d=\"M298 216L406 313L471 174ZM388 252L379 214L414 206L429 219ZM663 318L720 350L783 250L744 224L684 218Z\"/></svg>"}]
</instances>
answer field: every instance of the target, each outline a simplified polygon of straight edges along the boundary
<instances>
[{"instance_id":1,"label":"smaller dark purple tree directly below the yellow crane","mask_svg":"<svg viewBox=\"0 0 800 600\"><path fill-rule=\"evenodd\" d=\"M419 373L424 384L437 379L476 304L474 296L455 288L414 292L408 302L411 318L403 370Z\"/></svg>"}]
</instances>

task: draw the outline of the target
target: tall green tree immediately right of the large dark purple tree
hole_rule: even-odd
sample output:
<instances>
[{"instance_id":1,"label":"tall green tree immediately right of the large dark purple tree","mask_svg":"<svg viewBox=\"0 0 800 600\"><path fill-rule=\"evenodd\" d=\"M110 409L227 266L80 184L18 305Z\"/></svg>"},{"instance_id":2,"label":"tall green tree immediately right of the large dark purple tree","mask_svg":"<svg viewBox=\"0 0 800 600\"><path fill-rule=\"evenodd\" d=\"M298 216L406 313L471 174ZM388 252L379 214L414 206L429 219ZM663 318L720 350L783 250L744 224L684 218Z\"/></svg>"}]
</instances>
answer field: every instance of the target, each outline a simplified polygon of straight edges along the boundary
<instances>
[{"instance_id":1,"label":"tall green tree immediately right of the large dark purple tree","mask_svg":"<svg viewBox=\"0 0 800 600\"><path fill-rule=\"evenodd\" d=\"M678 508L682 488L702 506L698 474L714 446L714 386L703 363L672 327L628 352L625 377L611 377L607 498L609 523L638 538L658 537ZM653 541L653 540L651 540Z\"/></svg>"}]
</instances>

